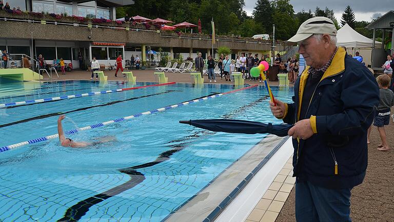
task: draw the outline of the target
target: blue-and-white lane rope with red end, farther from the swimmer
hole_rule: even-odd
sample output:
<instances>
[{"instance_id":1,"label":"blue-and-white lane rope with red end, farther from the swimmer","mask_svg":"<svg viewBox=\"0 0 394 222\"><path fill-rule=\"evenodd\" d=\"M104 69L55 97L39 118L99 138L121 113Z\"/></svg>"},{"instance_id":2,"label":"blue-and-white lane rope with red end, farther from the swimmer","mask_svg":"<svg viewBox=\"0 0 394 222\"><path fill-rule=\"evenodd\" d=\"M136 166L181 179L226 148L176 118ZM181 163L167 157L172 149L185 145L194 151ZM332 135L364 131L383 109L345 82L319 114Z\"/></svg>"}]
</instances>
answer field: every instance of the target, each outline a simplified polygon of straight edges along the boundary
<instances>
[{"instance_id":1,"label":"blue-and-white lane rope with red end, farther from the swimmer","mask_svg":"<svg viewBox=\"0 0 394 222\"><path fill-rule=\"evenodd\" d=\"M175 84L175 82L146 85L146 86L136 86L136 87L131 87L131 88L113 89L113 90L105 90L105 91L96 91L96 92L90 92L90 93L85 93L85 94L52 97L52 98L46 98L46 99L35 99L35 100L26 100L26 101L21 101L21 102L2 103L2 104L0 104L0 108L7 108L7 107L19 106L19 105L25 105L25 104L44 103L44 102L64 100L64 99L73 99L73 98L80 98L80 97L86 97L86 96L95 96L95 95L101 95L101 94L117 93L120 91L140 89L140 88L146 88L146 87L152 87L152 86L163 86L163 85L170 85L170 84Z\"/></svg>"}]
</instances>

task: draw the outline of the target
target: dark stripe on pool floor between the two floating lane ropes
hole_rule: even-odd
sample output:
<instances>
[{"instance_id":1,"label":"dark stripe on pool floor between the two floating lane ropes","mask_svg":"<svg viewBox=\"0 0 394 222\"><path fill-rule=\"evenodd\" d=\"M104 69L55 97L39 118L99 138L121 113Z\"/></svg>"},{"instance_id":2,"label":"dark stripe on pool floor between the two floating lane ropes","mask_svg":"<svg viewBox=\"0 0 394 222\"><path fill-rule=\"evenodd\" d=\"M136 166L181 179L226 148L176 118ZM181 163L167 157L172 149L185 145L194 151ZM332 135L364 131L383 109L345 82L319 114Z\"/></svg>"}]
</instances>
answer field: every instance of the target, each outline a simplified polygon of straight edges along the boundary
<instances>
[{"instance_id":1,"label":"dark stripe on pool floor between the two floating lane ropes","mask_svg":"<svg viewBox=\"0 0 394 222\"><path fill-rule=\"evenodd\" d=\"M19 124L19 123L25 123L25 122L29 122L29 121L32 121L32 120L45 119L45 118L48 118L48 117L74 113L74 112L78 112L78 111L82 111L82 110L86 110L86 109L90 109L90 108L101 107L101 106L108 106L108 105L113 105L113 104L116 104L116 103L126 102L126 101L130 101L130 100L136 100L136 99L141 99L141 98L146 98L146 97L151 97L151 96L162 95L162 94L166 94L166 93L171 93L173 91L181 91L181 90L166 90L166 91L161 92L161 93L149 94L149 95L140 96L140 97L132 97L132 98L125 99L125 100L116 100L116 101L111 101L111 102L100 104L100 105L94 105L94 106L87 106L87 107L77 108L77 109L69 110L69 111L66 111L66 112L57 112L57 113L45 114L45 115L41 115L41 116L30 117L30 118L23 119L23 120L18 120L18 121L15 121L15 122L2 124L2 125L0 125L0 128L6 127L6 126L10 126L10 125ZM48 101L48 102L56 102L56 101ZM34 104L26 104L24 106L28 106L28 105L34 105ZM13 107L9 107L9 108L13 108Z\"/></svg>"}]
</instances>

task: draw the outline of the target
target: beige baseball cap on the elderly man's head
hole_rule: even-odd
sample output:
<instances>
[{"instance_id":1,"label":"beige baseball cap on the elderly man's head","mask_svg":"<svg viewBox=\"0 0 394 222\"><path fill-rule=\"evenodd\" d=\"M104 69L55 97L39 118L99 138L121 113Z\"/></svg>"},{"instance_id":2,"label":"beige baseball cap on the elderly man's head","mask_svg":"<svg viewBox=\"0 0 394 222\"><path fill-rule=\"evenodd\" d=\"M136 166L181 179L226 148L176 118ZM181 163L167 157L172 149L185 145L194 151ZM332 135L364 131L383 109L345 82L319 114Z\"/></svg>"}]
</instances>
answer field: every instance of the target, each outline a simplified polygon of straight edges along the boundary
<instances>
[{"instance_id":1,"label":"beige baseball cap on the elderly man's head","mask_svg":"<svg viewBox=\"0 0 394 222\"><path fill-rule=\"evenodd\" d=\"M301 24L297 33L287 43L293 44L308 39L312 34L329 34L337 36L337 28L332 20L327 17L312 17Z\"/></svg>"}]
</instances>

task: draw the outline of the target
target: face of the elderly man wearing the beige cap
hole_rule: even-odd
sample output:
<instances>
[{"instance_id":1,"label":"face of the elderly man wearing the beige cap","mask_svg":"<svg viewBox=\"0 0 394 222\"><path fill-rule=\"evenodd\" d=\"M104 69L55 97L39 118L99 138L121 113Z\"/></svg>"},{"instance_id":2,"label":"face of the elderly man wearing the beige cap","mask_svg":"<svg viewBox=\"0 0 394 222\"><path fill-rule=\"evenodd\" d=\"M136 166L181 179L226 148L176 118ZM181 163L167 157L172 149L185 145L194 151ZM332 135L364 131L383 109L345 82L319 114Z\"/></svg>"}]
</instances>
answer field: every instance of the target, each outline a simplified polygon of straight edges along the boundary
<instances>
[{"instance_id":1,"label":"face of the elderly man wearing the beige cap","mask_svg":"<svg viewBox=\"0 0 394 222\"><path fill-rule=\"evenodd\" d=\"M315 65L320 64L322 54L326 53L323 40L319 42L313 36L300 42L299 46L298 52L302 54L308 66L316 67Z\"/></svg>"}]
</instances>

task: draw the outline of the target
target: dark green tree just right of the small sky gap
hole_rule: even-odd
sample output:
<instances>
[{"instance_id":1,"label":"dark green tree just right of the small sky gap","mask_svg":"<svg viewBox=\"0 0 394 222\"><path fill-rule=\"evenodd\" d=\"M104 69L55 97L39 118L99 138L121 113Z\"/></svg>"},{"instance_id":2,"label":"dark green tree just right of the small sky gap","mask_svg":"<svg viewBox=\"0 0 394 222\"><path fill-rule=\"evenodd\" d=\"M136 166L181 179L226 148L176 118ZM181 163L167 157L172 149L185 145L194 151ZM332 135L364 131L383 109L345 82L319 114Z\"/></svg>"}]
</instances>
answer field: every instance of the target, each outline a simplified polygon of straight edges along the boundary
<instances>
[{"instance_id":1,"label":"dark green tree just right of the small sky gap","mask_svg":"<svg viewBox=\"0 0 394 222\"><path fill-rule=\"evenodd\" d=\"M258 0L253 10L254 21L262 25L265 31L272 32L273 9L269 0Z\"/></svg>"}]
</instances>

